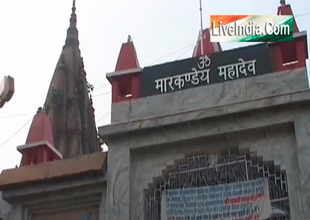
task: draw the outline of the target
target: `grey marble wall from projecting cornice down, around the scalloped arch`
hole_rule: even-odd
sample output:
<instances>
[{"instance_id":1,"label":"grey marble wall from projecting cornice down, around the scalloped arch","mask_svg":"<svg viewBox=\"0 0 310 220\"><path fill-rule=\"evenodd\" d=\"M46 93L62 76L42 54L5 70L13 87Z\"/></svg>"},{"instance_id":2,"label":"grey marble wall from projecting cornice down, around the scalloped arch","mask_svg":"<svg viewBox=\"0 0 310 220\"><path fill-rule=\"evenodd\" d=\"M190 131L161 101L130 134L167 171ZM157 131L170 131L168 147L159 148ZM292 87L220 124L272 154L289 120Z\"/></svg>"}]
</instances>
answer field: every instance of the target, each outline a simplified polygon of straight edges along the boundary
<instances>
[{"instance_id":1,"label":"grey marble wall from projecting cornice down, around the scalloped arch","mask_svg":"<svg viewBox=\"0 0 310 220\"><path fill-rule=\"evenodd\" d=\"M296 97L301 101L297 102ZM185 154L212 154L238 147L256 151L264 161L272 160L287 171L291 220L309 219L310 103L302 101L304 98L309 100L309 89L139 120L129 123L132 130L127 130L126 123L106 127L113 133L107 141L107 218L142 220L143 190L153 177L160 176L166 166L185 158ZM99 130L101 134L103 129ZM126 132L117 134L120 130Z\"/></svg>"}]
</instances>

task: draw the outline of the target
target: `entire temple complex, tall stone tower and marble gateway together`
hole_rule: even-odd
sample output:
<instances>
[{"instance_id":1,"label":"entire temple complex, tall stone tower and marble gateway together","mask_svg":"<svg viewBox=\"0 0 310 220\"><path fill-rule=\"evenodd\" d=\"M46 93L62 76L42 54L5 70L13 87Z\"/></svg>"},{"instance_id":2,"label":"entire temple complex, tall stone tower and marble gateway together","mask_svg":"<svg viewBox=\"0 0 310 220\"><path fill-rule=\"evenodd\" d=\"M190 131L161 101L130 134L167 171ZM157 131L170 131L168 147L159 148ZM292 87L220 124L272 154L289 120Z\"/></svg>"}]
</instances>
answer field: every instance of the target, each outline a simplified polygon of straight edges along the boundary
<instances>
[{"instance_id":1,"label":"entire temple complex, tall stone tower and marble gateway together","mask_svg":"<svg viewBox=\"0 0 310 220\"><path fill-rule=\"evenodd\" d=\"M192 57L147 67L129 36L106 75L111 124L97 129L75 10L21 164L0 175L0 220L310 219L308 43L295 19L293 42L223 50L207 28Z\"/></svg>"}]
</instances>

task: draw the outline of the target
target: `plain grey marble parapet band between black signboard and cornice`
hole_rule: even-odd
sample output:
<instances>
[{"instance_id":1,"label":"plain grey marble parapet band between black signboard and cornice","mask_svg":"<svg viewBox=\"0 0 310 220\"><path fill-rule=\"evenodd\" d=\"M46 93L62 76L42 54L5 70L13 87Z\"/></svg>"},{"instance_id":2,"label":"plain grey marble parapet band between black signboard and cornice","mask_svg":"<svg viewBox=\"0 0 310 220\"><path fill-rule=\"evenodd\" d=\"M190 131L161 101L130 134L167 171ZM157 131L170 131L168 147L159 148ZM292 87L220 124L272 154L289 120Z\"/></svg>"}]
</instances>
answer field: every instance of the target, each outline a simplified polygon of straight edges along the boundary
<instances>
[{"instance_id":1,"label":"plain grey marble parapet band between black signboard and cornice","mask_svg":"<svg viewBox=\"0 0 310 220\"><path fill-rule=\"evenodd\" d=\"M189 88L112 104L111 123L212 108L309 88L305 68Z\"/></svg>"}]
</instances>

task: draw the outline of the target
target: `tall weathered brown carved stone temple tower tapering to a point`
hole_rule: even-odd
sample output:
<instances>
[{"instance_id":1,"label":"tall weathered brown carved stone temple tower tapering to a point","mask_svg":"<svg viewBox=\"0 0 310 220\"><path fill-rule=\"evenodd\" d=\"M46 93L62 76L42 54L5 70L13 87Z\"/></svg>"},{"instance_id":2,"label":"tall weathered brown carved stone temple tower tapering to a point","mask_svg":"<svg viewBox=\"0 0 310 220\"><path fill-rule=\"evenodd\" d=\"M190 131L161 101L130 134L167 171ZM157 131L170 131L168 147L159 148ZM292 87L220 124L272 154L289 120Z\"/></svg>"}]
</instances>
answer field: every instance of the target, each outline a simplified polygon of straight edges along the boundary
<instances>
[{"instance_id":1,"label":"tall weathered brown carved stone temple tower tapering to a point","mask_svg":"<svg viewBox=\"0 0 310 220\"><path fill-rule=\"evenodd\" d=\"M75 0L66 43L44 103L50 117L55 148L66 157L100 151L86 72L79 50Z\"/></svg>"}]
</instances>

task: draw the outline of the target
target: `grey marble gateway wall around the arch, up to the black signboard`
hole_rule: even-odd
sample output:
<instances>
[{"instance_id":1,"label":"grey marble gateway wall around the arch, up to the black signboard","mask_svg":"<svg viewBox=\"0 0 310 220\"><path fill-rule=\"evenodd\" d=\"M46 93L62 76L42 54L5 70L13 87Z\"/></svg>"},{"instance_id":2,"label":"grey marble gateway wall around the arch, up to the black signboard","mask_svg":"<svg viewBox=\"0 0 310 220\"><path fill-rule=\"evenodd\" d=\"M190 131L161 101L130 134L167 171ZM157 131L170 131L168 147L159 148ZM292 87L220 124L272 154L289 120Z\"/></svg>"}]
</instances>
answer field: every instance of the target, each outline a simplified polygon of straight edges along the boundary
<instances>
[{"instance_id":1,"label":"grey marble gateway wall around the arch, up to the black signboard","mask_svg":"<svg viewBox=\"0 0 310 220\"><path fill-rule=\"evenodd\" d=\"M155 95L112 106L107 219L142 220L143 190L187 153L256 151L287 171L291 220L310 219L306 69Z\"/></svg>"}]
</instances>

